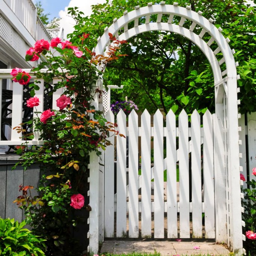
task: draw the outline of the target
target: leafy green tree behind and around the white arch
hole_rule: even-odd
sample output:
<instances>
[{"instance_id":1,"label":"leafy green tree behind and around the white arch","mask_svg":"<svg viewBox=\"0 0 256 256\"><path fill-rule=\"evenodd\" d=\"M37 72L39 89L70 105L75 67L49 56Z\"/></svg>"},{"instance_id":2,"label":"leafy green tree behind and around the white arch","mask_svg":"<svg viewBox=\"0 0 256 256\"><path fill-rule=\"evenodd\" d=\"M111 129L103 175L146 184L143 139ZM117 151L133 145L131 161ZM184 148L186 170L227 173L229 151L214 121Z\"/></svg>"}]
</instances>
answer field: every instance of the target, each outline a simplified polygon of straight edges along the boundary
<instances>
[{"instance_id":1,"label":"leafy green tree behind and around the white arch","mask_svg":"<svg viewBox=\"0 0 256 256\"><path fill-rule=\"evenodd\" d=\"M153 1L153 4L157 3L160 0ZM166 1L166 4L172 3ZM113 18L121 17L124 10L130 11L137 5L146 4L145 0L107 0L104 4L93 6L90 17L77 19L75 30L81 36L89 33L90 46L95 47L96 39L104 33L106 26L112 24ZM179 2L180 6L187 4L196 12L201 10L207 19L213 18L216 27L222 27L223 35L230 38L229 45L236 50L235 59L240 64L237 70L241 77L238 81L241 89L240 112L256 111L255 7L243 0ZM72 15L72 10L70 12ZM152 17L153 20L156 18ZM168 19L167 15L163 15L164 19ZM145 17L139 22L144 23ZM179 19L175 17L173 22L178 24ZM185 22L183 27L189 28L189 25ZM206 37L204 39L207 40ZM72 36L71 40L74 40ZM203 53L191 41L165 31L148 32L130 38L122 53L128 56L108 65L104 83L127 85L124 95L140 109L146 107L154 112L156 108L163 108L167 112L172 107L173 111L185 108L191 112L197 108L199 112L205 112L208 108L214 112L212 70Z\"/></svg>"}]
</instances>

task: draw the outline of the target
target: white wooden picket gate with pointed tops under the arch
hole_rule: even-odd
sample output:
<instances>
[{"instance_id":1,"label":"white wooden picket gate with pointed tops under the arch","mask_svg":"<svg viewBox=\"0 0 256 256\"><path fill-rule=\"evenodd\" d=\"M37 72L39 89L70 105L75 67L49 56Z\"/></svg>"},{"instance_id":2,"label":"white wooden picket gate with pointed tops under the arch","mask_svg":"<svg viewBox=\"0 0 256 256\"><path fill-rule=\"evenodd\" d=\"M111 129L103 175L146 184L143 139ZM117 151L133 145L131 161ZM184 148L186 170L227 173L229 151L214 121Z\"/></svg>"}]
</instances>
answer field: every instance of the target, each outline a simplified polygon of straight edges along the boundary
<instances>
[{"instance_id":1,"label":"white wooden picket gate with pointed tops under the arch","mask_svg":"<svg viewBox=\"0 0 256 256\"><path fill-rule=\"evenodd\" d=\"M111 111L108 111L106 118L114 122ZM117 130L129 141L129 168L126 168L126 139L117 136L117 192L114 194L115 143L112 137L113 145L108 146L105 151L105 237L114 237L115 232L116 237L126 236L128 214L130 238L139 237L139 229L142 237L151 237L151 216L154 216L154 238L164 238L164 228L167 228L168 238L177 238L178 233L181 238L189 238L191 237L190 213L192 213L192 236L215 238L212 114L209 111L204 114L203 128L201 128L200 115L195 110L191 115L191 127L189 127L188 115L183 110L179 115L179 127L176 127L175 114L170 110L166 115L166 127L164 127L163 115L160 110L157 110L154 115L154 126L151 127L150 115L145 110L141 115L141 127L138 127L138 115L132 111L126 127L126 115L121 110L117 115L117 124ZM141 137L141 175L138 175L139 137ZM150 146L152 138L154 140L153 167L151 167ZM164 158L164 141L166 141L166 158ZM189 153L191 153L192 201L189 201ZM177 163L179 163L179 191L177 191L176 181ZM129 185L126 185L127 170ZM167 170L167 191L164 191L164 170ZM151 197L152 179L154 179L154 193ZM141 189L141 195L138 193L139 189ZM116 218L114 218L114 212L116 212ZM140 213L141 225L139 225ZM151 213L154 214L151 215ZM164 224L165 213L167 213L167 226Z\"/></svg>"}]
</instances>

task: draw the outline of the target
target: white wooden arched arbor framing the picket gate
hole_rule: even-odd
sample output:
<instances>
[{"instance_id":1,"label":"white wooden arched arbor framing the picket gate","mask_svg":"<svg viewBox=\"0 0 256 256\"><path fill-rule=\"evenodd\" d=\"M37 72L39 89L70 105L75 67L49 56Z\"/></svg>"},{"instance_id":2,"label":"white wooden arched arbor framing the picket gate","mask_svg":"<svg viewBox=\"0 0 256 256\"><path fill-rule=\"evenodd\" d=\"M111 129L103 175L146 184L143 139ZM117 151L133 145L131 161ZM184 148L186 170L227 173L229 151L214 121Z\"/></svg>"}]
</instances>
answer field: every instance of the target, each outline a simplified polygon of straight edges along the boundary
<instances>
[{"instance_id":1,"label":"white wooden arched arbor framing the picket gate","mask_svg":"<svg viewBox=\"0 0 256 256\"><path fill-rule=\"evenodd\" d=\"M151 15L157 15L157 22L151 20ZM161 22L163 16L167 22ZM173 18L178 17L179 23L173 24ZM189 21L189 28L183 27ZM129 24L134 26L129 28ZM167 5L161 2L157 5L148 3L148 6L136 6L131 12L124 15L113 24L105 28L105 33L98 38L95 48L96 55L106 54L110 45L108 33L115 35L118 40L128 40L138 34L164 30L180 34L197 45L208 59L214 76L215 85L215 121L214 121L214 175L215 175L215 231L216 242L230 244L238 255L242 254L242 220L240 194L240 166L238 146L238 112L237 112L237 72L234 61L234 50L231 50L221 28L212 24L201 12L194 12L190 6L180 7L178 3ZM210 38L204 41L204 37ZM95 158L95 160L94 160ZM90 212L90 250L95 251L98 241L103 240L104 222L99 201L103 201L102 193L94 181L99 178L98 158L91 157L90 164L90 198L92 212ZM93 161L94 160L94 161ZM94 164L93 164L94 163ZM95 168L92 168L95 166ZM92 182L93 179L93 182ZM100 181L101 182L101 181ZM98 189L98 190L97 190ZM97 199L98 198L98 199ZM102 232L101 232L102 231Z\"/></svg>"}]
</instances>

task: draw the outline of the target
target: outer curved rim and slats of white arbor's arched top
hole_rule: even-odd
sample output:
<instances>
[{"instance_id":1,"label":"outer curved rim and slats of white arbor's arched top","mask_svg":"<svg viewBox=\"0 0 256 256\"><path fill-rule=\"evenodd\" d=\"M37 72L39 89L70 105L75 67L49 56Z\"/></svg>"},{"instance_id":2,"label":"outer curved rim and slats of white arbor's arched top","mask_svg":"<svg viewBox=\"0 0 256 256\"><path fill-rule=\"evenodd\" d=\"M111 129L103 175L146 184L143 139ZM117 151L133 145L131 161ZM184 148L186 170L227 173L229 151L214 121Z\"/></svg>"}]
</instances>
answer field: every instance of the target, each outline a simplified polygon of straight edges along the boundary
<instances>
[{"instance_id":1,"label":"outer curved rim and slats of white arbor's arched top","mask_svg":"<svg viewBox=\"0 0 256 256\"><path fill-rule=\"evenodd\" d=\"M233 56L234 50L231 50L228 45L229 39L225 38L221 34L222 29L216 28L215 25L212 24L213 20L211 18L209 20L204 18L202 16L202 12L194 12L191 10L190 6L186 6L185 8L178 6L178 3L174 3L174 5L165 4L165 2L161 2L157 5L152 5L152 3L148 3L148 6L136 6L135 10L132 10L131 12L125 11L124 15L119 19L115 18L113 20L113 24L109 28L105 28L105 33L102 35L102 37L98 38L98 44L95 48L96 54L103 54L106 50L106 47L110 45L110 38L108 36L108 33L111 33L118 37L120 30L123 29L124 33L122 34L122 39L128 39L129 33L127 32L129 31L128 24L130 22L134 21L135 28L139 26L139 18L146 17L145 24L149 24L151 23L151 15L154 14L158 15L156 22L157 24L163 23L161 22L162 15L169 15L169 19L166 22L168 24L172 24L174 16L181 17L181 20L178 25L181 28L183 28L182 26L186 20L191 21L192 24L189 28L189 31L193 34L193 37L199 37L201 41L204 41L203 37L206 33L208 33L211 36L211 38L209 41L204 42L209 47L208 49L205 49L206 47L204 47L204 49L201 50L205 55L207 55L207 51L212 51L215 56L221 52L223 57L219 60L215 58L218 61L219 67L224 63L226 64L226 70L222 71L221 76L225 77L227 75L227 77L237 77L236 64ZM198 35L194 32L196 26L200 26L202 28L200 34ZM214 51L210 49L210 46L213 44L213 42L217 43L217 48ZM216 82L217 80L215 80L215 84Z\"/></svg>"}]
</instances>

